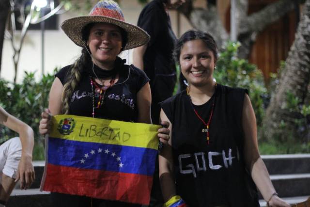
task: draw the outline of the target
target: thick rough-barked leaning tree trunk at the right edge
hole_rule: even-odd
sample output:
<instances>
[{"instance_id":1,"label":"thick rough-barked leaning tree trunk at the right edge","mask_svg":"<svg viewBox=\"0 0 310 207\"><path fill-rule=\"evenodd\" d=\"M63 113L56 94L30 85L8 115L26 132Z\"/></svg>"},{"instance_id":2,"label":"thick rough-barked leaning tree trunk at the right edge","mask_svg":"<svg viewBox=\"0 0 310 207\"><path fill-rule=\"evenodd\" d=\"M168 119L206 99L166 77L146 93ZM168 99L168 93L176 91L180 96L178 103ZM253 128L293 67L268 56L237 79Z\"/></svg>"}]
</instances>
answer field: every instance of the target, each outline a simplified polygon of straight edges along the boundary
<instances>
[{"instance_id":1,"label":"thick rough-barked leaning tree trunk at the right edge","mask_svg":"<svg viewBox=\"0 0 310 207\"><path fill-rule=\"evenodd\" d=\"M298 114L292 113L286 108L287 93L293 93L295 97L298 97L301 101L300 104L307 104L306 102L309 101L309 83L310 0L307 0L295 34L294 43L285 61L285 68L281 71L279 84L263 120L262 136L264 139L279 138L279 141L287 140L287 137L285 137L287 132L296 128L294 120L298 119ZM282 127L280 127L280 123L282 123Z\"/></svg>"}]
</instances>

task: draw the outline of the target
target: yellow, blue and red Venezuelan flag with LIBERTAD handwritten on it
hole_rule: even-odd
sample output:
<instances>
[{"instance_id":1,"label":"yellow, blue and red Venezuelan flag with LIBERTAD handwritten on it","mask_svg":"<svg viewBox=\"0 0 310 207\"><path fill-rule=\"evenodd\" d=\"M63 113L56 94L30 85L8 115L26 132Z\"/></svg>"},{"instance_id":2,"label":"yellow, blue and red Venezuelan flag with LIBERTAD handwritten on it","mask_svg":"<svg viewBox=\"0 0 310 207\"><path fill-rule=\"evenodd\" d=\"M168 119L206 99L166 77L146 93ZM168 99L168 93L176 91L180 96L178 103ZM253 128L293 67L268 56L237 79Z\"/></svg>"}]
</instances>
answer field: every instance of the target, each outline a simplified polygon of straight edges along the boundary
<instances>
[{"instance_id":1,"label":"yellow, blue and red Venezuelan flag with LIBERTAD handwritten on it","mask_svg":"<svg viewBox=\"0 0 310 207\"><path fill-rule=\"evenodd\" d=\"M41 191L148 205L158 125L52 117Z\"/></svg>"}]
</instances>

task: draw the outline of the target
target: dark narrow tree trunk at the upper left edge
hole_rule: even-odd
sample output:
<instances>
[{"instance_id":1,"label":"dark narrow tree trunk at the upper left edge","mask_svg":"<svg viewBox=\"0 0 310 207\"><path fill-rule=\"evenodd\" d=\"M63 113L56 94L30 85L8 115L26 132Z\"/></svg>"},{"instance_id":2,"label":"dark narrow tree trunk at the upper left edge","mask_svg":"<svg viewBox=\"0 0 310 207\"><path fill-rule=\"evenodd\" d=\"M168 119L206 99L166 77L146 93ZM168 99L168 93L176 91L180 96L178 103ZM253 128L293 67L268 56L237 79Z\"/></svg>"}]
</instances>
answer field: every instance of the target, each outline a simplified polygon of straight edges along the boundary
<instances>
[{"instance_id":1,"label":"dark narrow tree trunk at the upper left edge","mask_svg":"<svg viewBox=\"0 0 310 207\"><path fill-rule=\"evenodd\" d=\"M9 0L1 0L0 1L0 72L1 72L4 32L5 32L6 19L9 14L9 9L10 9Z\"/></svg>"}]
</instances>

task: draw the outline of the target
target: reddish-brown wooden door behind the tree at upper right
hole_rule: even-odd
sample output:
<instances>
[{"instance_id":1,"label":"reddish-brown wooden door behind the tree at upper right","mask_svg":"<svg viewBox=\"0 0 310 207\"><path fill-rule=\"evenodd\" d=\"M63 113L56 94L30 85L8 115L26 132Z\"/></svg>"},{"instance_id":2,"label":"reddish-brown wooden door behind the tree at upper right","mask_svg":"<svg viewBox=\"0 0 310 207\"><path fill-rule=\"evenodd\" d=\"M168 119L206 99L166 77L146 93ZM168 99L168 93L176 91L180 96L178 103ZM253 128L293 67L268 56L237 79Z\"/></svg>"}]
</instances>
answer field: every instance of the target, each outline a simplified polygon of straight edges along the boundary
<instances>
[{"instance_id":1,"label":"reddish-brown wooden door behind the tree at upper right","mask_svg":"<svg viewBox=\"0 0 310 207\"><path fill-rule=\"evenodd\" d=\"M277 0L249 0L248 14L257 12L275 1ZM227 13L226 20L228 21L225 25L229 31L230 8ZM277 73L280 62L287 58L294 42L296 27L296 13L291 11L258 34L249 56L249 62L256 64L263 71L265 80L269 79L270 73Z\"/></svg>"}]
</instances>

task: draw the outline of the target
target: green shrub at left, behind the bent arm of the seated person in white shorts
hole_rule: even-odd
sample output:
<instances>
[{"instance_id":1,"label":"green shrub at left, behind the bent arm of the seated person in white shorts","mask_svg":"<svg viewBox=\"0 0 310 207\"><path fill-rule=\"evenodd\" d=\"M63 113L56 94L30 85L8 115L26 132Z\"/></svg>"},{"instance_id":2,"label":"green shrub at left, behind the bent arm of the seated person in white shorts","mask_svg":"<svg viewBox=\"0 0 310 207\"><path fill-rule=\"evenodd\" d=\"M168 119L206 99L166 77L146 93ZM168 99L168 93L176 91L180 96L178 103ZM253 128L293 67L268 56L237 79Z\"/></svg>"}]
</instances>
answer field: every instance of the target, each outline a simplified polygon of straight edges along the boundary
<instances>
[{"instance_id":1,"label":"green shrub at left, behind the bent arm of the seated person in white shorts","mask_svg":"<svg viewBox=\"0 0 310 207\"><path fill-rule=\"evenodd\" d=\"M56 72L55 69L54 72ZM27 123L34 131L35 149L33 159L44 159L44 138L39 134L39 122L41 112L48 106L48 94L53 75L44 75L36 82L34 73L25 72L22 83L12 84L0 79L0 105L10 114ZM17 136L17 134L6 127L0 126L0 143Z\"/></svg>"}]
</instances>

